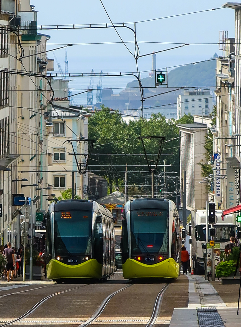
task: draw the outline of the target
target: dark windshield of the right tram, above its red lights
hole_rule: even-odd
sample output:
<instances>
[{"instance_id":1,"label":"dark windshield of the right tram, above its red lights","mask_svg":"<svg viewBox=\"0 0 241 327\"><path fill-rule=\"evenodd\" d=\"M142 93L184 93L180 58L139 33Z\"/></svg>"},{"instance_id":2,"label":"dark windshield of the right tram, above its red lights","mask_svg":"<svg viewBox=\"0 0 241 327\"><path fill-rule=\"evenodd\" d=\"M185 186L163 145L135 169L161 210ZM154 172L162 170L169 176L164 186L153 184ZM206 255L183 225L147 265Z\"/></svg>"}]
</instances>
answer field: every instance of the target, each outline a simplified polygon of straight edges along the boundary
<instances>
[{"instance_id":1,"label":"dark windshield of the right tram, above its red lights","mask_svg":"<svg viewBox=\"0 0 241 327\"><path fill-rule=\"evenodd\" d=\"M168 210L140 209L131 211L131 253L168 253Z\"/></svg>"}]
</instances>

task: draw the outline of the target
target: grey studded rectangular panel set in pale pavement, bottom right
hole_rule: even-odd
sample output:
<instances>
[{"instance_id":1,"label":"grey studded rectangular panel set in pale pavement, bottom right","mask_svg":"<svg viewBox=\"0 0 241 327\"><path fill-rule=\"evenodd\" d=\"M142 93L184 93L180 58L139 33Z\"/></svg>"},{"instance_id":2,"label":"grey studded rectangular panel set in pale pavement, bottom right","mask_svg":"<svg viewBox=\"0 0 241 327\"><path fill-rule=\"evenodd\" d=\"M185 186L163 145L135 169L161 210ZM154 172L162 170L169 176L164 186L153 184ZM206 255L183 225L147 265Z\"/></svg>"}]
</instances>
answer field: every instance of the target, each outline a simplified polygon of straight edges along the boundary
<instances>
[{"instance_id":1,"label":"grey studded rectangular panel set in pale pavement, bottom right","mask_svg":"<svg viewBox=\"0 0 241 327\"><path fill-rule=\"evenodd\" d=\"M197 318L199 327L225 327L216 308L197 309Z\"/></svg>"}]
</instances>

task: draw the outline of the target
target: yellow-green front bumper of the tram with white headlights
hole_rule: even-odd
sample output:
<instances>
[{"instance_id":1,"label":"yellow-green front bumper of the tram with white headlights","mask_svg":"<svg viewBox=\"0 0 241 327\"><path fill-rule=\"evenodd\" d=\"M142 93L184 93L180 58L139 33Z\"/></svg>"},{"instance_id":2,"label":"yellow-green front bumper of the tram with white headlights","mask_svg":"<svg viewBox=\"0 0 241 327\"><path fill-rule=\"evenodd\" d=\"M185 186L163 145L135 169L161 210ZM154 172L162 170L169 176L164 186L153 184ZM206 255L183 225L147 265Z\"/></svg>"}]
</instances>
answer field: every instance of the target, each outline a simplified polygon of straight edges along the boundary
<instances>
[{"instance_id":1,"label":"yellow-green front bumper of the tram with white headlights","mask_svg":"<svg viewBox=\"0 0 241 327\"><path fill-rule=\"evenodd\" d=\"M79 265L66 265L58 260L50 260L46 265L47 278L102 278L102 265L90 259Z\"/></svg>"}]
</instances>

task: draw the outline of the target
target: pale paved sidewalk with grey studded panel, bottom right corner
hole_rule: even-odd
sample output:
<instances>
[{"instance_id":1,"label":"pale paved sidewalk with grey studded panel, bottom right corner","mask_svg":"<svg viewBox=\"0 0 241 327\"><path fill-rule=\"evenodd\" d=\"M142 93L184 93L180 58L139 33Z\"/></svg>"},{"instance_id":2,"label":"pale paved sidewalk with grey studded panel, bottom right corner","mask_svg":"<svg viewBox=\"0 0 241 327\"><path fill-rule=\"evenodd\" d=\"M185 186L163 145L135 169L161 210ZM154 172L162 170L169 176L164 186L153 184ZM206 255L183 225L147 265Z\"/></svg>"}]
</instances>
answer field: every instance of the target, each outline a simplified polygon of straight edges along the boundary
<instances>
[{"instance_id":1,"label":"pale paved sidewalk with grey studded panel, bottom right corner","mask_svg":"<svg viewBox=\"0 0 241 327\"><path fill-rule=\"evenodd\" d=\"M206 282L198 275L187 275L187 278L188 308L174 309L170 327L241 326L241 309L237 315L239 285Z\"/></svg>"}]
</instances>

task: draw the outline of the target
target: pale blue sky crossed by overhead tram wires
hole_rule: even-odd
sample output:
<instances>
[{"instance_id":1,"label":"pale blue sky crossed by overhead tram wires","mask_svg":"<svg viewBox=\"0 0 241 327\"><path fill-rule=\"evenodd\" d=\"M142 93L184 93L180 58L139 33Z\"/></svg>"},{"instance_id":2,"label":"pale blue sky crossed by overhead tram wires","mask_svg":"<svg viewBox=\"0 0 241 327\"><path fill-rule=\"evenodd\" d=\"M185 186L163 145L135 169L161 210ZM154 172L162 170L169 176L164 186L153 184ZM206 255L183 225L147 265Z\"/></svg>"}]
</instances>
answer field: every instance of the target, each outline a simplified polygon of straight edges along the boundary
<instances>
[{"instance_id":1,"label":"pale blue sky crossed by overhead tram wires","mask_svg":"<svg viewBox=\"0 0 241 327\"><path fill-rule=\"evenodd\" d=\"M38 11L38 25L73 25L75 24L105 24L110 23L100 0L32 0ZM178 15L199 10L222 7L225 3L220 0L202 1L146 1L146 0L102 0L113 23L130 23L160 17ZM127 24L134 27L134 24ZM137 41L140 55L175 47L178 44L168 43L218 43L219 31L228 30L229 37L234 37L234 10L222 8L213 11L194 13L179 17L165 18L149 22L137 23ZM39 30L39 32L41 32ZM134 34L127 28L118 28L124 42L133 42ZM68 43L105 43L121 42L114 28L79 29L79 30L43 30L42 33L51 36L48 50ZM163 42L141 43L141 42ZM134 43L126 44L134 53ZM222 55L217 44L190 44L178 49L168 50L157 54L157 69L175 65L187 64L199 60L207 60L217 52ZM65 67L65 49L55 50L55 55L63 70ZM74 44L67 47L69 73L96 73L136 71L136 62L123 43L119 44ZM48 58L54 58L48 53ZM151 70L152 57L139 58L139 71ZM55 70L58 70L55 64ZM141 74L147 77L148 72ZM94 79L94 88L98 84ZM124 88L132 77L103 77L102 87ZM70 81L72 93L87 89L89 77L75 78ZM114 90L119 93L121 89ZM95 94L94 94L95 95ZM77 96L76 104L86 102L86 95ZM94 99L95 100L95 99Z\"/></svg>"}]
</instances>

